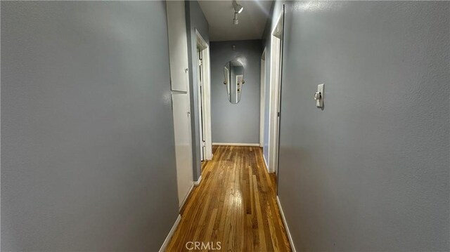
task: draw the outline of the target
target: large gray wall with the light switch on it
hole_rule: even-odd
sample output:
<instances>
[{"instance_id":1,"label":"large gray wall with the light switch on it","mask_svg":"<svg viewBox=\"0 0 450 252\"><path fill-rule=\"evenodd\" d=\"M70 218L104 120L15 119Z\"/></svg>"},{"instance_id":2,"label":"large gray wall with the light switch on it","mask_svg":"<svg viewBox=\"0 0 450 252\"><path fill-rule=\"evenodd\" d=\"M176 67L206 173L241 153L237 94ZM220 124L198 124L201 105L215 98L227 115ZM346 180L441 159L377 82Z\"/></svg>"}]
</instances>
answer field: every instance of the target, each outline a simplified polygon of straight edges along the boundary
<instances>
[{"instance_id":1,"label":"large gray wall with the light switch on it","mask_svg":"<svg viewBox=\"0 0 450 252\"><path fill-rule=\"evenodd\" d=\"M449 7L287 3L278 194L298 251L449 250Z\"/></svg>"}]
</instances>

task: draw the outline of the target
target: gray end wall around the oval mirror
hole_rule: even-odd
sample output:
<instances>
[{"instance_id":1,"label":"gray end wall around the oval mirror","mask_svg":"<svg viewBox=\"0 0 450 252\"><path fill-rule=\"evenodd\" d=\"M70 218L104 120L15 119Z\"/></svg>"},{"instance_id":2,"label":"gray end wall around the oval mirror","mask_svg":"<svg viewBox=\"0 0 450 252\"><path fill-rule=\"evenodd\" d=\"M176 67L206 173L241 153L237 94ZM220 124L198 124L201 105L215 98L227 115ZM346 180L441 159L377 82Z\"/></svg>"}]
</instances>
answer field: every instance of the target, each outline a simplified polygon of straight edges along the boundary
<instances>
[{"instance_id":1,"label":"gray end wall around the oval mirror","mask_svg":"<svg viewBox=\"0 0 450 252\"><path fill-rule=\"evenodd\" d=\"M261 40L211 42L212 142L259 143L261 55ZM224 85L224 66L235 58L245 62L245 84L240 102L231 104Z\"/></svg>"}]
</instances>

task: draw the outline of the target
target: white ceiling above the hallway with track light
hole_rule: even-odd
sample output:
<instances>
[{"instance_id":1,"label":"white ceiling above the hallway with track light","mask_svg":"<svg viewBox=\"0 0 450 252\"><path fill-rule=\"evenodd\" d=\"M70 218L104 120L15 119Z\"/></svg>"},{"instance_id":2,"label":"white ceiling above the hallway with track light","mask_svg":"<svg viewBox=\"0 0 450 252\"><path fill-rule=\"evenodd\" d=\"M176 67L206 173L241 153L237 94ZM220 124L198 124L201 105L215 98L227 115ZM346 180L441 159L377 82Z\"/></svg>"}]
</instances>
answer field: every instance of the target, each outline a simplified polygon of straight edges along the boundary
<instances>
[{"instance_id":1,"label":"white ceiling above the hallway with track light","mask_svg":"<svg viewBox=\"0 0 450 252\"><path fill-rule=\"evenodd\" d=\"M272 1L238 1L244 7L238 25L233 25L232 2L198 1L210 25L210 41L261 39Z\"/></svg>"}]
</instances>

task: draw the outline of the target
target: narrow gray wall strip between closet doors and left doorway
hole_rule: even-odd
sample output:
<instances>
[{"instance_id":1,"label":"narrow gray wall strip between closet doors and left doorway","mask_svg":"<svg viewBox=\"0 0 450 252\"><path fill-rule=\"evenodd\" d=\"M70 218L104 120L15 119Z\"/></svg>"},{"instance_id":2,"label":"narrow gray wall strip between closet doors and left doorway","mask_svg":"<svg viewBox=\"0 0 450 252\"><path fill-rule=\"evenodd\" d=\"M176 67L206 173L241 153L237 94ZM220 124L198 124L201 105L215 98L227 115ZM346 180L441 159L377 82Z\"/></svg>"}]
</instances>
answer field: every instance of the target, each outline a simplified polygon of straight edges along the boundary
<instances>
[{"instance_id":1,"label":"narrow gray wall strip between closet doors and left doorway","mask_svg":"<svg viewBox=\"0 0 450 252\"><path fill-rule=\"evenodd\" d=\"M192 160L193 178L198 180L202 175L200 159L200 126L198 113L198 77L197 77L197 44L195 43L195 29L207 44L210 44L208 33L209 25L203 15L198 1L185 1L186 3L186 29L188 35L188 60L189 60L189 88L191 92L191 131L192 131Z\"/></svg>"}]
</instances>

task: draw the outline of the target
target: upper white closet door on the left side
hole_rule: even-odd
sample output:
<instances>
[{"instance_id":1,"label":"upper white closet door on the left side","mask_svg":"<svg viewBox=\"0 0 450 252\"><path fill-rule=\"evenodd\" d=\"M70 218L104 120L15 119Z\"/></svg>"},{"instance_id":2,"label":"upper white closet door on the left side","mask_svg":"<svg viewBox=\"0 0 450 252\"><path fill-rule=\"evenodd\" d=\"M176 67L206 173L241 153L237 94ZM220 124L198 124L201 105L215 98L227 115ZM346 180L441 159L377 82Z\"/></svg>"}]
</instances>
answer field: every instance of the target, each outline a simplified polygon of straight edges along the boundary
<instances>
[{"instance_id":1,"label":"upper white closet door on the left side","mask_svg":"<svg viewBox=\"0 0 450 252\"><path fill-rule=\"evenodd\" d=\"M184 1L166 1L172 91L188 91L188 39Z\"/></svg>"}]
</instances>

